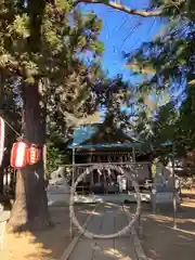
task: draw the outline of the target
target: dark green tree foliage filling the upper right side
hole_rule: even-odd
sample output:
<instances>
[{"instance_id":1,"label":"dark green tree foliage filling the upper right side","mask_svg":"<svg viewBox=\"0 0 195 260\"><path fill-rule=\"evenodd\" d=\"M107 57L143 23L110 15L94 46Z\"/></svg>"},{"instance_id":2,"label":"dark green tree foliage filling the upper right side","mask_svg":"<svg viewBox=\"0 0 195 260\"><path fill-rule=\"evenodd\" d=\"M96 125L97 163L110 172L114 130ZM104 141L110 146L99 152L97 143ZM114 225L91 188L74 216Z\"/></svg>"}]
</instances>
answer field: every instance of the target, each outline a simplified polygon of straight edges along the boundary
<instances>
[{"instance_id":1,"label":"dark green tree foliage filling the upper right side","mask_svg":"<svg viewBox=\"0 0 195 260\"><path fill-rule=\"evenodd\" d=\"M153 6L165 8L166 4L168 6L169 1L153 1ZM143 98L140 100L145 112L138 115L138 131L153 147L173 141L178 152L185 153L195 147L195 93L192 87L195 73L195 24L193 10L188 17L184 1L178 10L174 9L166 8L166 27L151 42L143 43L126 57L132 72L135 69L135 73L143 74L145 72L142 68L146 68L146 75L151 74L144 77L138 88L139 95L146 96L146 102ZM148 102L148 95L154 93L157 98L162 95L165 105L161 106L158 101L158 104Z\"/></svg>"}]
</instances>

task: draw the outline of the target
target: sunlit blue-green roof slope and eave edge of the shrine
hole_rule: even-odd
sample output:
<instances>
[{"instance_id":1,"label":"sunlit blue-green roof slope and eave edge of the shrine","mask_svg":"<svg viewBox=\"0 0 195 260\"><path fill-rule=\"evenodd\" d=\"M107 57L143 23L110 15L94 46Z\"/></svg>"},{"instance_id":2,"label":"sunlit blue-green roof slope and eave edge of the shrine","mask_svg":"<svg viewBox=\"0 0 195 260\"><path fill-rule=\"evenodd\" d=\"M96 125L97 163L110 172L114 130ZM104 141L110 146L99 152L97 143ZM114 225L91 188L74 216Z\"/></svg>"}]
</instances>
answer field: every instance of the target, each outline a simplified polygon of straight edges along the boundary
<instances>
[{"instance_id":1,"label":"sunlit blue-green roof slope and eave edge of the shrine","mask_svg":"<svg viewBox=\"0 0 195 260\"><path fill-rule=\"evenodd\" d=\"M100 123L94 123L90 126L81 126L79 128L76 128L74 131L74 136L73 136L73 143L69 145L69 148L74 147L80 147L80 148L102 148L102 147L133 147L135 146L134 142L136 142L135 139L133 139L134 142L132 143L98 143L98 144L88 144L88 140L91 140L95 133L99 131L99 126ZM129 134L127 135L128 138Z\"/></svg>"}]
</instances>

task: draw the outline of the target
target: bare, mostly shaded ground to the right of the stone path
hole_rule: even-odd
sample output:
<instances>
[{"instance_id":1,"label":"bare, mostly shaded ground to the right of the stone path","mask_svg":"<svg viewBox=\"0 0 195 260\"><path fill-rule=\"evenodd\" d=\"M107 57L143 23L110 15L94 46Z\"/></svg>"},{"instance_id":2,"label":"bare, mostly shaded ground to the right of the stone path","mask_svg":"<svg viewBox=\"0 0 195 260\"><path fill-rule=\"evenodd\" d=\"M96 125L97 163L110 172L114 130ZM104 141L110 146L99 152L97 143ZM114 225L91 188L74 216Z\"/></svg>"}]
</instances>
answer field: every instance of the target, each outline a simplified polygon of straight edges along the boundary
<instances>
[{"instance_id":1,"label":"bare, mostly shaded ground to the right of the stone path","mask_svg":"<svg viewBox=\"0 0 195 260\"><path fill-rule=\"evenodd\" d=\"M142 244L150 260L194 260L195 203L184 200L178 209L177 229L173 229L172 207L161 207L152 214L143 209Z\"/></svg>"}]
</instances>

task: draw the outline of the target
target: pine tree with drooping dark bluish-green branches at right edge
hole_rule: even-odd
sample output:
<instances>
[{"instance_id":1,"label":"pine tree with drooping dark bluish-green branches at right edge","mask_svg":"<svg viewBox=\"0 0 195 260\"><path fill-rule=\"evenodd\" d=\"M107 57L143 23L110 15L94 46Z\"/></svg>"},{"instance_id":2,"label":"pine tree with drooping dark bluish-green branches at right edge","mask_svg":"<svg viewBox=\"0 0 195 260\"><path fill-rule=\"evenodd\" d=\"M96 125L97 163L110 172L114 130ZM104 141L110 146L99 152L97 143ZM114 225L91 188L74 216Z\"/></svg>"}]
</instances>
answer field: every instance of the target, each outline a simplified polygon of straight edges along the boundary
<instances>
[{"instance_id":1,"label":"pine tree with drooping dark bluish-green branches at right edge","mask_svg":"<svg viewBox=\"0 0 195 260\"><path fill-rule=\"evenodd\" d=\"M165 91L170 95L173 105L166 110L167 121L172 110L178 109L177 120L172 121L174 134L170 136L169 127L157 130L164 140L171 139L183 147L194 147L194 72L195 72L195 24L193 9L186 12L185 2L174 12L167 12L165 28L151 41L145 42L127 54L131 70L148 75L140 87L140 92L160 95ZM169 103L168 103L169 106ZM170 108L170 107L169 107ZM162 107L165 112L165 108ZM159 113L158 113L159 114ZM180 115L180 116L179 116ZM166 119L164 118L164 125ZM191 123L190 123L191 121ZM161 125L161 120L160 120ZM166 130L166 131L165 131ZM173 132L172 132L173 133Z\"/></svg>"}]
</instances>

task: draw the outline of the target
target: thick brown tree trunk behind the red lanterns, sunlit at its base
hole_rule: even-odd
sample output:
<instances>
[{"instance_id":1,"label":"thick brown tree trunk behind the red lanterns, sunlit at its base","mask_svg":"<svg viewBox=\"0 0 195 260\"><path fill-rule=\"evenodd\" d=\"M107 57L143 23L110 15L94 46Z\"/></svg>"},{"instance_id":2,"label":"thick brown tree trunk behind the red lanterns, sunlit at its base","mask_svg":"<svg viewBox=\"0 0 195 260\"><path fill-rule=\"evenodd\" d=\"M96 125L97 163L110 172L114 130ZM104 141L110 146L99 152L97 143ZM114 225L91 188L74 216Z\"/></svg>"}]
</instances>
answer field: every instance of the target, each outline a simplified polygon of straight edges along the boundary
<instances>
[{"instance_id":1,"label":"thick brown tree trunk behind the red lanterns, sunlit at its base","mask_svg":"<svg viewBox=\"0 0 195 260\"><path fill-rule=\"evenodd\" d=\"M46 143L46 108L41 102L39 84L27 84L23 90L24 133L28 144L41 150ZM17 173L16 200L9 225L12 229L42 229L50 224L44 181L43 159L26 166Z\"/></svg>"}]
</instances>

